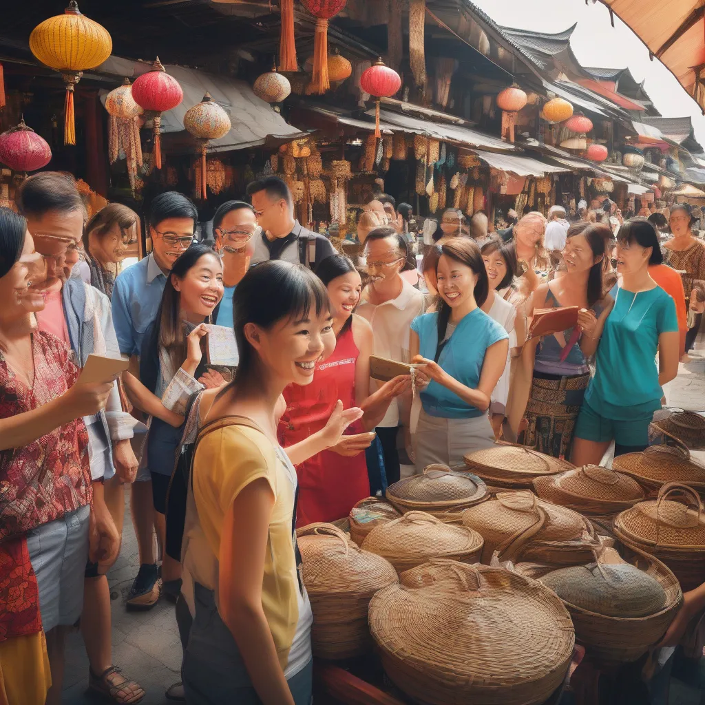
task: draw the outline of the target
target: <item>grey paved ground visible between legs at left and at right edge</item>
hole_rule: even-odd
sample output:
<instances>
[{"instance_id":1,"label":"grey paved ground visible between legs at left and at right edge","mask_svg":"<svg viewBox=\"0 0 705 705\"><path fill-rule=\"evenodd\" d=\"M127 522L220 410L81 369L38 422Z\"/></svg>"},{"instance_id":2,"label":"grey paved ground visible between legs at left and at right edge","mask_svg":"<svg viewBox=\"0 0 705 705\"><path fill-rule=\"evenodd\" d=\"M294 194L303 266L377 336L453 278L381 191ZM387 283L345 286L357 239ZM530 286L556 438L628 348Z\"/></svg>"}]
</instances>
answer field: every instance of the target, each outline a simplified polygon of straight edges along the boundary
<instances>
[{"instance_id":1,"label":"grey paved ground visible between legs at left and at right edge","mask_svg":"<svg viewBox=\"0 0 705 705\"><path fill-rule=\"evenodd\" d=\"M705 360L694 360L680 366L678 378L666 388L668 403L692 411L705 410ZM705 456L705 453L703 454ZM705 459L705 457L704 457ZM403 467L403 475L412 468ZM138 568L137 543L129 510L125 513L123 548L109 574L113 598L114 663L123 668L147 691L144 705L168 703L164 691L180 680L181 645L171 603L164 599L147 613L125 611L125 596ZM67 644L66 682L64 703L87 705L94 700L87 697L88 661L82 637L71 635ZM705 703L705 694L673 679L670 705L699 705Z\"/></svg>"}]
</instances>

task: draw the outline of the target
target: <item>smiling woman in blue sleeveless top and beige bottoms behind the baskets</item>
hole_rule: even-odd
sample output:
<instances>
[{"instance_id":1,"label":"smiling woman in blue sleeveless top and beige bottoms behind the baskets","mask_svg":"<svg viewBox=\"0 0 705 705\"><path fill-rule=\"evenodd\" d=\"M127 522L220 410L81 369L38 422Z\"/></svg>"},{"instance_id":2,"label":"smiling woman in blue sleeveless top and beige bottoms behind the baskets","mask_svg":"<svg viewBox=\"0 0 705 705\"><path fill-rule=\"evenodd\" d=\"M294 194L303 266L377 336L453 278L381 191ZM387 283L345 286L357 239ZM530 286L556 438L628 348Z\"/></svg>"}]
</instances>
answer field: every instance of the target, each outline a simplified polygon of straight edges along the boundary
<instances>
[{"instance_id":1,"label":"smiling woman in blue sleeveless top and beige bottoms behind the baskets","mask_svg":"<svg viewBox=\"0 0 705 705\"><path fill-rule=\"evenodd\" d=\"M415 434L418 471L434 462L463 465L465 453L494 443L487 412L509 351L503 326L479 308L489 292L479 247L469 238L450 240L436 274L439 310L411 324L423 405Z\"/></svg>"}]
</instances>

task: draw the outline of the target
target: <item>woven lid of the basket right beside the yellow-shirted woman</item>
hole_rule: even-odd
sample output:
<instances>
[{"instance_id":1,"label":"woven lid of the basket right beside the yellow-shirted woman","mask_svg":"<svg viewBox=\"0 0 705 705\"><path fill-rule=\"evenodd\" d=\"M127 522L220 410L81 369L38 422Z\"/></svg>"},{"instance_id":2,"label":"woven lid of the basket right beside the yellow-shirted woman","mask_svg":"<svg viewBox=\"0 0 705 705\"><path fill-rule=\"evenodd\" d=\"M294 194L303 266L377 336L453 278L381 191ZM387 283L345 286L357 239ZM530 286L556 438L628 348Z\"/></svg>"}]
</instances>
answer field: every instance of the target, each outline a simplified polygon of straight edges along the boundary
<instances>
[{"instance_id":1,"label":"woven lid of the basket right beside the yellow-shirted woman","mask_svg":"<svg viewBox=\"0 0 705 705\"><path fill-rule=\"evenodd\" d=\"M311 595L372 594L398 582L388 560L362 551L332 524L309 524L296 534L302 577Z\"/></svg>"}]
</instances>

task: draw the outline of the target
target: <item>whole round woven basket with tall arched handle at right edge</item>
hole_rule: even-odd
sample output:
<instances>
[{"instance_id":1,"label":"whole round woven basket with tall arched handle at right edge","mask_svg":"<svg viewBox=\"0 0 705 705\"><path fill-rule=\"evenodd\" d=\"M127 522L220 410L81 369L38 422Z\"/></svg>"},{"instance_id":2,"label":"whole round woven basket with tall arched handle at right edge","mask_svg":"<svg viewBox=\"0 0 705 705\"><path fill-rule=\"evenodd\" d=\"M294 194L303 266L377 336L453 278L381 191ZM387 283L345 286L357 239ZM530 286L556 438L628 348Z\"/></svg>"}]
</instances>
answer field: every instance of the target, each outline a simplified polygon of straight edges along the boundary
<instances>
[{"instance_id":1,"label":"whole round woven basket with tall arched handle at right edge","mask_svg":"<svg viewBox=\"0 0 705 705\"><path fill-rule=\"evenodd\" d=\"M678 494L681 501L675 501ZM666 563L684 591L705 582L705 508L692 487L663 485L657 499L618 515L614 532L627 546Z\"/></svg>"}]
</instances>

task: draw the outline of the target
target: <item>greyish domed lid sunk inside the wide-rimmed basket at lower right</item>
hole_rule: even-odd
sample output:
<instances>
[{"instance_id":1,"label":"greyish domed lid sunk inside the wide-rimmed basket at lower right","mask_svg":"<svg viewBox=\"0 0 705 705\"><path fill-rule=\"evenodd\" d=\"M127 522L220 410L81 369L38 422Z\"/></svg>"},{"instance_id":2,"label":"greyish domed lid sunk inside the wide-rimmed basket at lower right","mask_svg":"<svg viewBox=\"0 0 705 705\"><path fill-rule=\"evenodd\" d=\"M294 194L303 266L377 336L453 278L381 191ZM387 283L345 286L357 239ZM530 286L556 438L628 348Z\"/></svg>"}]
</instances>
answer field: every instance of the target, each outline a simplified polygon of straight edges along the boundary
<instances>
[{"instance_id":1,"label":"greyish domed lid sunk inside the wide-rimmed basket at lower right","mask_svg":"<svg viewBox=\"0 0 705 705\"><path fill-rule=\"evenodd\" d=\"M572 565L539 580L565 602L608 617L646 617L668 602L658 580L630 563Z\"/></svg>"}]
</instances>

